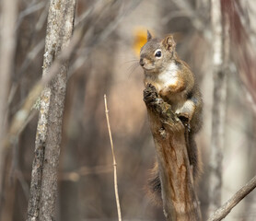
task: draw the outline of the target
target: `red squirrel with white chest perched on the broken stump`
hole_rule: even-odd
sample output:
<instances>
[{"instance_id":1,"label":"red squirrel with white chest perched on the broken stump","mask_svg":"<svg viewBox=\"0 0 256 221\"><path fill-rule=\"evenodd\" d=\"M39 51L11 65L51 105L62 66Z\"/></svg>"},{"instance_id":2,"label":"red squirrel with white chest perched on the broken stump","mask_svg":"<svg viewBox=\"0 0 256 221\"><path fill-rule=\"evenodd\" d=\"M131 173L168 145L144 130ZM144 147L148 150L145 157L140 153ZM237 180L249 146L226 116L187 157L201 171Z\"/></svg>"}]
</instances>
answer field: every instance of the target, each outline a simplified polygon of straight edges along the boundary
<instances>
[{"instance_id":1,"label":"red squirrel with white chest perched on the broken stump","mask_svg":"<svg viewBox=\"0 0 256 221\"><path fill-rule=\"evenodd\" d=\"M180 60L176 52L176 42L172 35L163 40L154 39L147 31L147 42L141 48L140 65L145 73L145 86L151 84L157 93L168 102L171 109L186 126L187 151L192 165L193 179L198 180L202 171L201 158L194 141L194 135L202 127L203 100L194 75L188 64ZM149 180L150 192L158 193L160 199L161 183L158 167L153 169ZM158 200L157 200L158 201Z\"/></svg>"}]
</instances>

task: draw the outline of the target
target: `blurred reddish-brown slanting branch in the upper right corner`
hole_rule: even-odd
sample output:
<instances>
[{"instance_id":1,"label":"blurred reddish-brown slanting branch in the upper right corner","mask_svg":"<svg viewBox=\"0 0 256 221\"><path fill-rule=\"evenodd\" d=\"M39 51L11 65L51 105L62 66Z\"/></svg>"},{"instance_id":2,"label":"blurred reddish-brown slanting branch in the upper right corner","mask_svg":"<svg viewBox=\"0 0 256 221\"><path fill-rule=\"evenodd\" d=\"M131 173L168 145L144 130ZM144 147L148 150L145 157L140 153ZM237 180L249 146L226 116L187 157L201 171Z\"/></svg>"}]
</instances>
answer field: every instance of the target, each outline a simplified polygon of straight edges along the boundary
<instances>
[{"instance_id":1,"label":"blurred reddish-brown slanting branch in the upper right corner","mask_svg":"<svg viewBox=\"0 0 256 221\"><path fill-rule=\"evenodd\" d=\"M243 12L239 1L224 1L225 13L229 18L231 54L234 64L238 69L238 74L244 87L246 87L246 99L251 105L252 111L256 114L256 52L251 41L255 40L255 32L250 31L246 18L247 13ZM252 9L252 6L251 8ZM254 28L255 29L255 28Z\"/></svg>"}]
</instances>

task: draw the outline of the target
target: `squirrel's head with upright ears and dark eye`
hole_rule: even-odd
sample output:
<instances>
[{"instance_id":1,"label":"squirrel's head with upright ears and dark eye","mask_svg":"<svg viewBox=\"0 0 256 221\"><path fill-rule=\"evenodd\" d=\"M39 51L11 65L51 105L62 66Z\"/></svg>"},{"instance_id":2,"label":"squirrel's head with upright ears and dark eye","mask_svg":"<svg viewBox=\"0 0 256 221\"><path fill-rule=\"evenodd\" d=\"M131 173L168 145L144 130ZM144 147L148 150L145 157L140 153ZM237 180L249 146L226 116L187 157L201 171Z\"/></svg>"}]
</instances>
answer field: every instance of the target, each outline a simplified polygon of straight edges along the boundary
<instances>
[{"instance_id":1,"label":"squirrel's head with upright ears and dark eye","mask_svg":"<svg viewBox=\"0 0 256 221\"><path fill-rule=\"evenodd\" d=\"M147 42L140 52L140 65L146 73L160 73L169 66L172 59L176 58L175 46L172 35L164 40L158 40L153 39L147 30Z\"/></svg>"}]
</instances>

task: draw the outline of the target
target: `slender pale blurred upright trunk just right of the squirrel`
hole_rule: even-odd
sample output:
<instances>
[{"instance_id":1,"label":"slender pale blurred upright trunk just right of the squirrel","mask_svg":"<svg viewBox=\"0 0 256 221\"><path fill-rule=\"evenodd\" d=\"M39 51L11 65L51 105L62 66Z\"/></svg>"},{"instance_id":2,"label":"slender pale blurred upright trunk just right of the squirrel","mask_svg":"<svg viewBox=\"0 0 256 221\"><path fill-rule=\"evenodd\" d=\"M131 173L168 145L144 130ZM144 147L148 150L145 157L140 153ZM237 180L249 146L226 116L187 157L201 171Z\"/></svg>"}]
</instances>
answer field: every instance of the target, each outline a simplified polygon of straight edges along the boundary
<instances>
[{"instance_id":1,"label":"slender pale blurred upright trunk just right of the squirrel","mask_svg":"<svg viewBox=\"0 0 256 221\"><path fill-rule=\"evenodd\" d=\"M224 35L221 0L212 0L214 103L211 155L209 162L209 207L213 213L221 205L222 158L225 141L225 115L227 97L227 67L229 59L228 31Z\"/></svg>"}]
</instances>

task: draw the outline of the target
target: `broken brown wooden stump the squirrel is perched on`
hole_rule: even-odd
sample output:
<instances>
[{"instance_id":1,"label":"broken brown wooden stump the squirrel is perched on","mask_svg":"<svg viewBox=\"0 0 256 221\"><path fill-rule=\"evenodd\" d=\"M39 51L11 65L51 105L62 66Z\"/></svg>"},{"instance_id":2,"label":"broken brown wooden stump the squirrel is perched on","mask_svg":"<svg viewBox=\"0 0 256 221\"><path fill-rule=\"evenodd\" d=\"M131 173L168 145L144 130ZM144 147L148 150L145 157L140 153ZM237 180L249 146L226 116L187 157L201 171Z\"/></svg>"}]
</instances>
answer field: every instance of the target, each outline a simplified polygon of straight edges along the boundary
<instances>
[{"instance_id":1,"label":"broken brown wooden stump the squirrel is perched on","mask_svg":"<svg viewBox=\"0 0 256 221\"><path fill-rule=\"evenodd\" d=\"M157 152L164 214L167 220L201 220L201 211L192 182L185 128L158 98L156 88L145 88L144 100Z\"/></svg>"}]
</instances>

